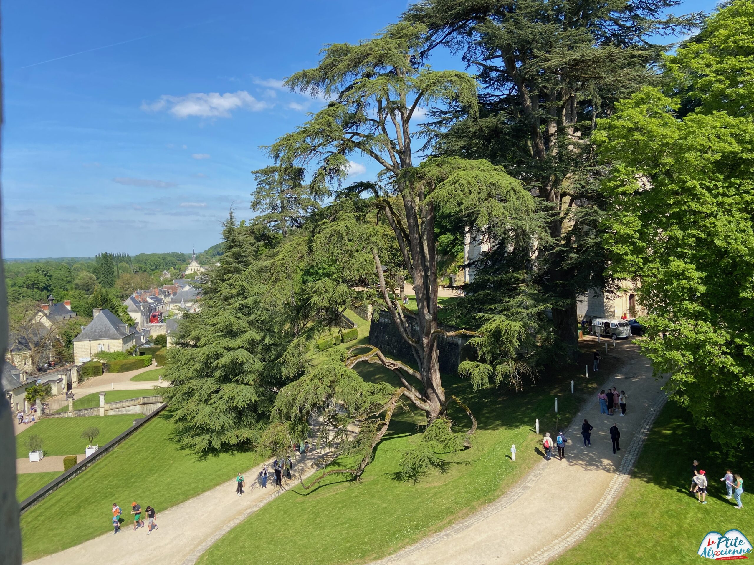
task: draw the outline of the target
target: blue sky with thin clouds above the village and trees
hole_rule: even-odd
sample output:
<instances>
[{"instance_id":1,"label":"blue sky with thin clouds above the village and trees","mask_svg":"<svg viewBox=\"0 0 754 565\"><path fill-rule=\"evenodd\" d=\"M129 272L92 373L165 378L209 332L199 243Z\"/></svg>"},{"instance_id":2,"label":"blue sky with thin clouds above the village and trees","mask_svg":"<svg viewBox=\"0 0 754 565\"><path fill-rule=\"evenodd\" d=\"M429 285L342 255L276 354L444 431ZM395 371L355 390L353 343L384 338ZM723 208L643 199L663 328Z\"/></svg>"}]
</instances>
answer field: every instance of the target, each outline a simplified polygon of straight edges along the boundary
<instances>
[{"instance_id":1,"label":"blue sky with thin clouds above the village and trees","mask_svg":"<svg viewBox=\"0 0 754 565\"><path fill-rule=\"evenodd\" d=\"M685 11L710 11L694 0ZM2 4L3 255L188 252L249 218L250 171L321 102L280 89L324 43L397 19L381 2ZM460 68L448 56L435 68ZM375 172L363 157L352 172Z\"/></svg>"}]
</instances>

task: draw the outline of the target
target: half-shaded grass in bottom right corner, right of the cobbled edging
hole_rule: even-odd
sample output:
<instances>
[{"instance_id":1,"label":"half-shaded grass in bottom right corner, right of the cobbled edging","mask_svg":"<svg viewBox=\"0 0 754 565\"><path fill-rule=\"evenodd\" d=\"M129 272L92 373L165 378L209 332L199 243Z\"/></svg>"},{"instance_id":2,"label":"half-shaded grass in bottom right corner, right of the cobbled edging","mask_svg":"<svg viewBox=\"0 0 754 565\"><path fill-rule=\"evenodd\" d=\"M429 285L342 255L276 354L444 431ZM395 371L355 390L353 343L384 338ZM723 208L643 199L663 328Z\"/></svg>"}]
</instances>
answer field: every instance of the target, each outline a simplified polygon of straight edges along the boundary
<instances>
[{"instance_id":1,"label":"half-shaded grass in bottom right corner, right of the cobbled edging","mask_svg":"<svg viewBox=\"0 0 754 565\"><path fill-rule=\"evenodd\" d=\"M746 454L746 451L743 452ZM706 533L741 530L754 540L751 495L743 493L743 510L725 499L718 479L726 466L743 477L754 476L754 462L731 461L710 435L697 430L684 408L668 402L654 423L628 487L609 517L556 565L634 565L634 563L700 563L696 551ZM688 494L691 461L707 472L706 505ZM618 548L605 551L606 547Z\"/></svg>"}]
</instances>

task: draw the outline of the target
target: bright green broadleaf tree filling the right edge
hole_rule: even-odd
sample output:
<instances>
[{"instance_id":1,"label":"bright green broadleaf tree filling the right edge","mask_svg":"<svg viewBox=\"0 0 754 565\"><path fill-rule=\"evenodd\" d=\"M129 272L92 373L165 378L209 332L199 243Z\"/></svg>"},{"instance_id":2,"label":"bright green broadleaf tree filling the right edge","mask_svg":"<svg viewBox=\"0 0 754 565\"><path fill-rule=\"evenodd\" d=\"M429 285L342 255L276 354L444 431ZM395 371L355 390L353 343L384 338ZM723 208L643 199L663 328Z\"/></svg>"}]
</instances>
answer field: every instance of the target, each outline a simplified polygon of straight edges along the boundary
<instances>
[{"instance_id":1,"label":"bright green broadleaf tree filling the right edge","mask_svg":"<svg viewBox=\"0 0 754 565\"><path fill-rule=\"evenodd\" d=\"M605 245L641 277L654 371L732 450L754 438L754 4L713 15L665 75L599 121Z\"/></svg>"}]
</instances>

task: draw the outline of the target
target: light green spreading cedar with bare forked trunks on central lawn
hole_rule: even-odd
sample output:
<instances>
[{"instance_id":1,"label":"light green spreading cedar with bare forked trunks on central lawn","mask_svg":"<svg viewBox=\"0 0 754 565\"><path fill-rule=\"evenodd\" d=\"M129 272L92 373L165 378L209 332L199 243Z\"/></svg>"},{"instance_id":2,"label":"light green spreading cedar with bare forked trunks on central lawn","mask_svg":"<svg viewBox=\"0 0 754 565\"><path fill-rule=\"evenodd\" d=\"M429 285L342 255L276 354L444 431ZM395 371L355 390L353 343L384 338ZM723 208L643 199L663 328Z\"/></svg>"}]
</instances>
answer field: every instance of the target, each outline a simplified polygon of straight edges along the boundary
<instances>
[{"instance_id":1,"label":"light green spreading cedar with bare forked trunks on central lawn","mask_svg":"<svg viewBox=\"0 0 754 565\"><path fill-rule=\"evenodd\" d=\"M333 289L326 304L345 307L360 298L363 284L375 285L411 347L417 368L388 359L375 347L354 348L346 359L321 363L281 389L275 399L275 423L265 435L273 450L290 446L302 440L316 413L325 414L323 425L335 426L345 441L348 425L358 420L360 431L345 449L357 456L357 463L338 471L355 478L372 460L403 397L425 411L433 430L452 435L445 417L451 399L446 399L438 365L437 340L446 332L437 324L437 214L459 215L467 225L484 231L489 226L516 226L533 211L532 197L520 183L487 161L431 158L415 166L415 141L422 131L412 119L420 105L455 101L472 114L477 105L474 78L415 64L425 47L425 32L423 26L400 23L359 44L326 46L317 67L297 72L286 84L331 102L270 148L278 166L314 163L314 187L339 185L352 153L382 167L379 182L346 188L333 206L312 219L313 268L308 272L317 274L308 286ZM391 269L403 269L412 278L418 335L397 298L394 280L385 276ZM508 329L513 338L523 331L513 325ZM403 386L365 383L353 371L358 362L385 365ZM484 369L476 366L468 372L475 381L483 380ZM499 371L507 374L516 368L508 363ZM345 407L345 415L328 411L329 402ZM406 462L409 475L415 476L421 472L416 466L430 465L431 458L407 457Z\"/></svg>"}]
</instances>

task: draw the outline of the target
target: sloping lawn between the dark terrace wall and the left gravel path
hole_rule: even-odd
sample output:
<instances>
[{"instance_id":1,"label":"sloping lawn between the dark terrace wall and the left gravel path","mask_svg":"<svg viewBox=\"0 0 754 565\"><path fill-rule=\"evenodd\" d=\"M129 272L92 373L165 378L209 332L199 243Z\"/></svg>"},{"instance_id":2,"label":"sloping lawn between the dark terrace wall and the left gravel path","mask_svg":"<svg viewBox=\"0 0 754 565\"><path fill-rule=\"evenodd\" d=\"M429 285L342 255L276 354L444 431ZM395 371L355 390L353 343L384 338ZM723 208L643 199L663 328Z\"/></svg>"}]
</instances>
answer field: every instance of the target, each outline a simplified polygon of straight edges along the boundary
<instances>
[{"instance_id":1,"label":"sloping lawn between the dark terrace wall and the left gravel path","mask_svg":"<svg viewBox=\"0 0 754 565\"><path fill-rule=\"evenodd\" d=\"M100 420L109 418L117 416ZM87 418L63 421L70 420ZM124 508L136 500L143 508L149 504L161 512L229 481L239 469L245 472L260 461L254 453L198 460L179 449L173 441L173 429L167 416L155 417L111 454L26 512L21 517L24 561L108 532L113 502ZM49 530L50 524L55 524L54 536L35 535Z\"/></svg>"}]
</instances>

